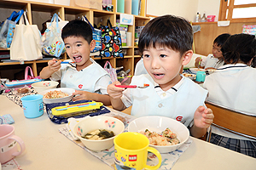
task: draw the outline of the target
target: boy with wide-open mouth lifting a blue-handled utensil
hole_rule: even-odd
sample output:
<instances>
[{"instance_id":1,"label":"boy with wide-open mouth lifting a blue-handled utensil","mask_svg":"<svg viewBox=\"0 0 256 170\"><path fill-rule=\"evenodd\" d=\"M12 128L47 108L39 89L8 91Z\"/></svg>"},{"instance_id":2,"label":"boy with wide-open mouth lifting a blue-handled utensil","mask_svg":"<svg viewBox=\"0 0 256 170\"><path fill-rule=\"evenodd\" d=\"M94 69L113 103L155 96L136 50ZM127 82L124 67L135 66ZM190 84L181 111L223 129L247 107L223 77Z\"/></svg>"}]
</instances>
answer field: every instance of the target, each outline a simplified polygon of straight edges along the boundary
<instances>
[{"instance_id":1,"label":"boy with wide-open mouth lifting a blue-handled utensil","mask_svg":"<svg viewBox=\"0 0 256 170\"><path fill-rule=\"evenodd\" d=\"M61 80L61 88L76 89L74 101L90 99L110 105L107 93L110 76L101 65L90 59L90 51L96 45L90 25L83 20L72 20L63 27L61 37L70 58L66 60L69 64L51 59L40 72L40 77Z\"/></svg>"}]
</instances>

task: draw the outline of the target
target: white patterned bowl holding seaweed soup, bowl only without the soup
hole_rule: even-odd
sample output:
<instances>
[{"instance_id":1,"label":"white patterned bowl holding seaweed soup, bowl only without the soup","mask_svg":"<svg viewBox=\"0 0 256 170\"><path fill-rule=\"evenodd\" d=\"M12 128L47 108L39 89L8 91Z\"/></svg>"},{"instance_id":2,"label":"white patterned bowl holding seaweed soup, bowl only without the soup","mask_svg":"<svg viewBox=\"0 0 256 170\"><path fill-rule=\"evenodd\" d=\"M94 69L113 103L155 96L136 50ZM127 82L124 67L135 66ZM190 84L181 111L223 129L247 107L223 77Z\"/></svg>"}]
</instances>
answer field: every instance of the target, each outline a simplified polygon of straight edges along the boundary
<instances>
[{"instance_id":1,"label":"white patterned bowl holding seaweed soup, bowl only without the soup","mask_svg":"<svg viewBox=\"0 0 256 170\"><path fill-rule=\"evenodd\" d=\"M91 140L81 137L86 133L90 133L97 129L113 131L114 136L112 138L102 140ZM124 130L124 123L111 116L88 116L73 127L74 135L81 140L84 146L93 151L107 150L111 148L113 146L113 139L115 136L119 133L123 133Z\"/></svg>"}]
</instances>

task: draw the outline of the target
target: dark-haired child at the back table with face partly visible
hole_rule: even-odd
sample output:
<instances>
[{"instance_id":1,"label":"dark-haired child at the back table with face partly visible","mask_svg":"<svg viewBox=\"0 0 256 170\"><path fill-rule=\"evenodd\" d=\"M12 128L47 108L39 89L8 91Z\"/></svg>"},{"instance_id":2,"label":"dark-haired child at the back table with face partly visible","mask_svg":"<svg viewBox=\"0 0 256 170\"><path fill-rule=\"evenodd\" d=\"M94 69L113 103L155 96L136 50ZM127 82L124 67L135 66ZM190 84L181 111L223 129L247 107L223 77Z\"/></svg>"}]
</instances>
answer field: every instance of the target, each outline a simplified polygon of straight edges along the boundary
<instances>
[{"instance_id":1,"label":"dark-haired child at the back table with face partly visible","mask_svg":"<svg viewBox=\"0 0 256 170\"><path fill-rule=\"evenodd\" d=\"M215 38L212 45L212 54L207 57L197 57L195 59L195 67L197 68L201 61L201 68L204 69L217 69L219 66L224 65L223 55L220 50L224 42L230 37L230 34L224 33Z\"/></svg>"}]
</instances>

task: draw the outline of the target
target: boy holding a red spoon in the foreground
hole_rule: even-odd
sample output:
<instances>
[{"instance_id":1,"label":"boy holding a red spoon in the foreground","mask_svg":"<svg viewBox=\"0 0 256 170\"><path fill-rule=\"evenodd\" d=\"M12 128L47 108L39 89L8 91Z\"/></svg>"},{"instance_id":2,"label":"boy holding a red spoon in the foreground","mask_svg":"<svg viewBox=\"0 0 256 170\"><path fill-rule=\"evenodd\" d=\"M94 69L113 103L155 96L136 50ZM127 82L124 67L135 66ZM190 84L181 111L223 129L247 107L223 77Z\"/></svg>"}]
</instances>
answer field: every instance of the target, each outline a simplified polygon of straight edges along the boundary
<instances>
[{"instance_id":1,"label":"boy holding a red spoon in the foreground","mask_svg":"<svg viewBox=\"0 0 256 170\"><path fill-rule=\"evenodd\" d=\"M207 133L213 119L204 101L207 90L179 71L192 57L193 34L187 20L164 15L148 22L139 37L139 50L148 74L135 76L131 84L148 88L108 86L113 108L119 111L132 105L132 116L168 116L190 129L200 138Z\"/></svg>"}]
</instances>

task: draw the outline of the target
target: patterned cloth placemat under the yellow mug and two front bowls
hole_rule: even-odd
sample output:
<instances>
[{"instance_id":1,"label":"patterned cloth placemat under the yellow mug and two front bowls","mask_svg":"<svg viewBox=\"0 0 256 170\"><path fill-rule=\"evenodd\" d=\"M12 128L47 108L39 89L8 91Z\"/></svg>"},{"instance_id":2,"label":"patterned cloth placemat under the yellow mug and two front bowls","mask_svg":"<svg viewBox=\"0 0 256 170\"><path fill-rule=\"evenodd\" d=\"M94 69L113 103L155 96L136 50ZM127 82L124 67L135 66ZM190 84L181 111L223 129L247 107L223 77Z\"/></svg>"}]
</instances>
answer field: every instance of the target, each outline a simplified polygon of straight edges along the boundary
<instances>
[{"instance_id":1,"label":"patterned cloth placemat under the yellow mug and two front bowls","mask_svg":"<svg viewBox=\"0 0 256 170\"><path fill-rule=\"evenodd\" d=\"M129 125L129 122L131 122L135 117L127 115L125 113L106 113L104 114L104 116L123 116L126 119L125 122L125 132L127 132L127 127ZM102 150L100 152L94 152L91 151L89 149L87 149L84 144L80 141L80 140L74 140L72 135L69 133L67 127L61 127L59 128L59 132L62 133L64 136L67 137L67 139L70 139L74 144L78 144L81 148L83 148L84 150L88 151L91 155L96 156L98 159L102 160L103 162L105 162L106 164L108 164L108 166L113 167L113 162L114 162L114 146L112 148L110 148L109 150ZM161 166L160 166L160 170L167 170L167 169L172 169L173 165L175 164L175 162L178 160L178 158L180 156L182 156L183 152L185 150L187 150L189 148L189 146L192 144L192 139L188 139L187 142L185 142L178 150L166 153L166 154L161 154L162 156L162 162L161 162ZM156 158L156 156L154 156L154 154L149 153L148 154L148 165L155 165L157 164L158 159Z\"/></svg>"}]
</instances>

